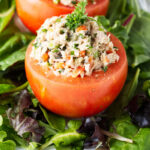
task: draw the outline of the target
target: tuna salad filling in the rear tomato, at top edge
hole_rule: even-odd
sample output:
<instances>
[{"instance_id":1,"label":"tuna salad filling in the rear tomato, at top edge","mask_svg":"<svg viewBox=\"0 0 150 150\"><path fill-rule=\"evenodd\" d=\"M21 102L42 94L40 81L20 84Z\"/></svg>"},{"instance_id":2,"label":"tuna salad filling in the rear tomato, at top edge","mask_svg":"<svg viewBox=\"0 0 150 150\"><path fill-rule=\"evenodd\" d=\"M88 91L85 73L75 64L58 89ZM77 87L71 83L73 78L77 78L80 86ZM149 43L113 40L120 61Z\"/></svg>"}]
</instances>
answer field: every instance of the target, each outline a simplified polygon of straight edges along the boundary
<instances>
[{"instance_id":1,"label":"tuna salad filling in the rear tomato, at top edge","mask_svg":"<svg viewBox=\"0 0 150 150\"><path fill-rule=\"evenodd\" d=\"M53 0L55 4L61 3L65 6L70 6L70 7L75 6L80 1L83 1L83 0ZM96 4L95 0L89 0L89 2Z\"/></svg>"}]
</instances>

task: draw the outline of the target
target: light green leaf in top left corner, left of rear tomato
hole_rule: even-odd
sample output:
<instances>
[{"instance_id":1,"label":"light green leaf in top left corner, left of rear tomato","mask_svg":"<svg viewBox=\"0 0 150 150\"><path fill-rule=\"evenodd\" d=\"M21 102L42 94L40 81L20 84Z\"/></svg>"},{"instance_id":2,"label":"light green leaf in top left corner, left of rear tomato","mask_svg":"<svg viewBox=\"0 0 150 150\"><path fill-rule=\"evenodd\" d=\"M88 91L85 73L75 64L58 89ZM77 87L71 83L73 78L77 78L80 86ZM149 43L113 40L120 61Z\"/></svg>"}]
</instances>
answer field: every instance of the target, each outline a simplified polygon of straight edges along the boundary
<instances>
[{"instance_id":1,"label":"light green leaf in top left corner, left of rear tomato","mask_svg":"<svg viewBox=\"0 0 150 150\"><path fill-rule=\"evenodd\" d=\"M15 0L0 1L0 33L7 26L15 13Z\"/></svg>"}]
</instances>

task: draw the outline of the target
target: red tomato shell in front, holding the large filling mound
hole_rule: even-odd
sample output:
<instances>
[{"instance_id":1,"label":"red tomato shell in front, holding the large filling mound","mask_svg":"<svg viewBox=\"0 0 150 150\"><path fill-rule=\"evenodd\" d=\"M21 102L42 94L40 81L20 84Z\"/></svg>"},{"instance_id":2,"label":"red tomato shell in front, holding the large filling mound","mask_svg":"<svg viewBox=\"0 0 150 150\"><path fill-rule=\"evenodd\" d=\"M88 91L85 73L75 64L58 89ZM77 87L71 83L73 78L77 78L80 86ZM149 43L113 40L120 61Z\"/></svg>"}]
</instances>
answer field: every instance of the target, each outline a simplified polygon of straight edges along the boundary
<instances>
[{"instance_id":1,"label":"red tomato shell in front, holding the large filling mound","mask_svg":"<svg viewBox=\"0 0 150 150\"><path fill-rule=\"evenodd\" d=\"M91 116L106 109L120 93L128 70L122 43L112 34L111 40L119 49L119 61L111 64L106 72L95 72L84 78L55 76L30 57L30 44L25 58L26 75L40 103L52 112L68 117Z\"/></svg>"}]
</instances>

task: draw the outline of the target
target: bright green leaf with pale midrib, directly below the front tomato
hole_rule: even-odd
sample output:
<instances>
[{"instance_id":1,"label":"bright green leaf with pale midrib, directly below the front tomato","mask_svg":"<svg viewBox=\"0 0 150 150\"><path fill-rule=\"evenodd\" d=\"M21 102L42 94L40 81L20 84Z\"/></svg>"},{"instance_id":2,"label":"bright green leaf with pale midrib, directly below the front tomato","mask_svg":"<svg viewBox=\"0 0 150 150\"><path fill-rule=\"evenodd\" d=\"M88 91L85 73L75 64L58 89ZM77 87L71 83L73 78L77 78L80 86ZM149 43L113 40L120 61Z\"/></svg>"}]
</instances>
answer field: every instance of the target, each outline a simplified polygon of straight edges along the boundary
<instances>
[{"instance_id":1,"label":"bright green leaf with pale midrib, directly below the front tomato","mask_svg":"<svg viewBox=\"0 0 150 150\"><path fill-rule=\"evenodd\" d=\"M45 144L43 144L41 146L41 150L45 149L46 147L48 147L49 145L52 145L52 144L55 144L56 149L58 149L58 150L65 149L65 148L66 149L69 149L69 148L74 149L77 147L78 147L78 149L82 149L82 147L83 147L82 141L86 138L86 136L84 134L78 133L76 131L77 129L79 129L81 124L82 124L82 122L80 120L70 120L67 124L68 129L66 129L63 132L54 133L55 135L52 136ZM82 143L82 144L79 145L79 143Z\"/></svg>"}]
</instances>

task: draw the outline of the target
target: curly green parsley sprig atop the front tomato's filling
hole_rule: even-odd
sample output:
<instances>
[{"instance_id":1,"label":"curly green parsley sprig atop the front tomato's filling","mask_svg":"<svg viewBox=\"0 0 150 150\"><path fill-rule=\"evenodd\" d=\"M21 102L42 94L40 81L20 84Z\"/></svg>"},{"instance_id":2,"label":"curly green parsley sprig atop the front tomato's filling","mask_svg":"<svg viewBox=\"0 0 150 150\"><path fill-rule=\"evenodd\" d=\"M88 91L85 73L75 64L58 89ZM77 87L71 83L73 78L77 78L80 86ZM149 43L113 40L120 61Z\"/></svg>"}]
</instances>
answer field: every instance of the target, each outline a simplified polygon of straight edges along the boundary
<instances>
[{"instance_id":1,"label":"curly green parsley sprig atop the front tomato's filling","mask_svg":"<svg viewBox=\"0 0 150 150\"><path fill-rule=\"evenodd\" d=\"M81 1L75 7L75 10L72 14L69 14L66 18L67 23L66 26L70 30L75 30L80 25L84 24L84 22L88 19L88 16L85 14L85 7L87 5L87 1Z\"/></svg>"}]
</instances>

